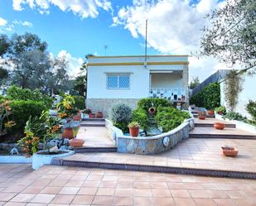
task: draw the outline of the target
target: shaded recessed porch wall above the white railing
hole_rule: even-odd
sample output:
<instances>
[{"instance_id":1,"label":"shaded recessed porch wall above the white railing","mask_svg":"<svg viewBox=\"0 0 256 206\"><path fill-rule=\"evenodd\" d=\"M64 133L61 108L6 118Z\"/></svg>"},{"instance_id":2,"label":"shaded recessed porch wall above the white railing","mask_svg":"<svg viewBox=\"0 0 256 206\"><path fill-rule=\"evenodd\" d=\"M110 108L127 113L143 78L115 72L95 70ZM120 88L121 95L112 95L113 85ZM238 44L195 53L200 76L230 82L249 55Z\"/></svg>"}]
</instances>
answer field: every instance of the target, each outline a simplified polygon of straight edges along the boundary
<instances>
[{"instance_id":1,"label":"shaded recessed porch wall above the white railing","mask_svg":"<svg viewBox=\"0 0 256 206\"><path fill-rule=\"evenodd\" d=\"M183 87L182 74L152 74L151 87L181 88Z\"/></svg>"}]
</instances>

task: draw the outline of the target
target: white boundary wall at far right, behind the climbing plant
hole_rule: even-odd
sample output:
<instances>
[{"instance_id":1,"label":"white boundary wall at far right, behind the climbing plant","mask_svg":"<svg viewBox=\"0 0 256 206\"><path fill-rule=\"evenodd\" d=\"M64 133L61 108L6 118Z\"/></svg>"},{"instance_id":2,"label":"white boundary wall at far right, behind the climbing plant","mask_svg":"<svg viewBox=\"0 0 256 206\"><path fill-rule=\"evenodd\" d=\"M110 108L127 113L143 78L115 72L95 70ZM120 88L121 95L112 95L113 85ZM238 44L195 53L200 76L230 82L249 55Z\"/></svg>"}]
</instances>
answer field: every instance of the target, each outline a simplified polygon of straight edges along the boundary
<instances>
[{"instance_id":1,"label":"white boundary wall at far right, behind the climbing plant","mask_svg":"<svg viewBox=\"0 0 256 206\"><path fill-rule=\"evenodd\" d=\"M247 113L245 109L245 105L249 102L249 99L256 101L256 74L253 76L244 74L243 80L243 88L244 90L239 93L239 103L235 108L235 112L241 113L243 116L250 117L249 113ZM224 83L220 84L221 91L221 105L225 105L225 95L224 95Z\"/></svg>"}]
</instances>

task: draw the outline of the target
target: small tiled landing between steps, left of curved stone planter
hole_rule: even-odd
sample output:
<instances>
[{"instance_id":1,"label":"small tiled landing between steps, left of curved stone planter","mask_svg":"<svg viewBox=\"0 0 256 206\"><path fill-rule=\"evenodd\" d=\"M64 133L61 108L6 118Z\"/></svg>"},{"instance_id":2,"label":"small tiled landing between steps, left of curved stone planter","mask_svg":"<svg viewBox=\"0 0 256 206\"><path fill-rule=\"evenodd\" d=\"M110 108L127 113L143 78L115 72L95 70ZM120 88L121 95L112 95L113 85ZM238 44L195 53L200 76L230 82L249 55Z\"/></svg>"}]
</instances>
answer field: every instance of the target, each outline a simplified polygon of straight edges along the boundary
<instances>
[{"instance_id":1,"label":"small tiled landing between steps, left of curved stone planter","mask_svg":"<svg viewBox=\"0 0 256 206\"><path fill-rule=\"evenodd\" d=\"M78 139L85 140L85 147L115 147L105 127L80 127Z\"/></svg>"}]
</instances>

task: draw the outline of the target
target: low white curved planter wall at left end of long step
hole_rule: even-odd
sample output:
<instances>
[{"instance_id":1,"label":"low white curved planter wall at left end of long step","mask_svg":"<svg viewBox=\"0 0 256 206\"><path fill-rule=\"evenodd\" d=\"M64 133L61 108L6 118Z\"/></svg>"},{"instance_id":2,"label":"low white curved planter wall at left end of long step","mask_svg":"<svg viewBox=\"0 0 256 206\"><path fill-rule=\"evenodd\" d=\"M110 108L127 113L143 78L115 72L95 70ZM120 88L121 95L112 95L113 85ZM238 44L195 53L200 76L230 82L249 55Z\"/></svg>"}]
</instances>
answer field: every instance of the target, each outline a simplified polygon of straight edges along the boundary
<instances>
[{"instance_id":1,"label":"low white curved planter wall at left end of long step","mask_svg":"<svg viewBox=\"0 0 256 206\"><path fill-rule=\"evenodd\" d=\"M34 170L39 169L42 165L49 165L51 164L52 158L55 157L63 157L63 156L71 156L75 154L75 151L68 151L68 150L60 150L61 153L51 153L45 154L47 150L37 151L32 156L32 168Z\"/></svg>"}]
</instances>

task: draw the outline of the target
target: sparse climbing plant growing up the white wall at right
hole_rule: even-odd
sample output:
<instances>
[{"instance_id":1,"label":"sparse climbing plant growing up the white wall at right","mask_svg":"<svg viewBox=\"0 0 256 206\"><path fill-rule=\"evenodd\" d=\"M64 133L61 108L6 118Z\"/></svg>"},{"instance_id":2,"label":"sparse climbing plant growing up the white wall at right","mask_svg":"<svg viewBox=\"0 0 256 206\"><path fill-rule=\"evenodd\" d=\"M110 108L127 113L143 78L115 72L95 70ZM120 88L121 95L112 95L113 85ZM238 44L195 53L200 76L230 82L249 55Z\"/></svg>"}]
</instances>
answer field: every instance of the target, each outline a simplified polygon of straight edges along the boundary
<instances>
[{"instance_id":1,"label":"sparse climbing plant growing up the white wall at right","mask_svg":"<svg viewBox=\"0 0 256 206\"><path fill-rule=\"evenodd\" d=\"M238 103L239 93L243 90L242 78L235 70L230 70L225 77L224 94L225 102L230 111L234 111Z\"/></svg>"}]
</instances>

